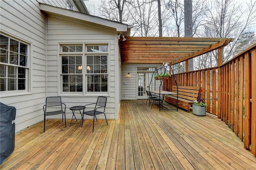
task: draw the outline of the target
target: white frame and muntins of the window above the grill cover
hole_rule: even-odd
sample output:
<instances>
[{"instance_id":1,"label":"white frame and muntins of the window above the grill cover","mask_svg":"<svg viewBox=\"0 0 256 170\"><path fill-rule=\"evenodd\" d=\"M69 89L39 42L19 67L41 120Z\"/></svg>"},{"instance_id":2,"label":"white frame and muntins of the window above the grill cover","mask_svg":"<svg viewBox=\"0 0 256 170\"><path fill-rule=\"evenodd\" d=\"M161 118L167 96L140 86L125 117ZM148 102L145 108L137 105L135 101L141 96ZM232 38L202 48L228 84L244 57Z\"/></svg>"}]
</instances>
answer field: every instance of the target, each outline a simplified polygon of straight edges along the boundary
<instances>
[{"instance_id":1,"label":"white frame and muntins of the window above the grill cover","mask_svg":"<svg viewBox=\"0 0 256 170\"><path fill-rule=\"evenodd\" d=\"M24 40L20 40L19 38L16 38L14 36L10 36L8 34L4 34L2 32L0 32L1 36L5 36L6 38L8 38L8 49L5 49L8 53L8 63L3 63L3 62L0 62L0 65L4 65L6 68L5 68L5 73L6 75L4 76L4 78L6 79L6 81L8 81L8 67L14 67L16 68L16 77L14 77L14 79L16 79L16 90L6 90L6 91L1 91L1 97L9 97L9 96L13 96L13 95L24 95L24 94L30 94L30 88L31 88L31 68L32 66L30 65L31 64L31 53L32 53L32 43L29 43L29 42L25 42ZM17 51L11 51L10 49L10 40L14 40L14 41L17 41L18 42L18 52ZM25 55L20 51L20 43L23 43L24 45L26 45L26 52L25 52ZM10 52L12 53L17 53L17 64L13 64L13 63L10 63ZM26 65L20 65L20 55L24 55L26 56ZM22 78L22 77L18 77L18 68L24 68L24 75L25 75L25 78ZM15 70L15 69L14 69ZM12 77L9 77L9 79L12 78ZM25 89L21 89L21 90L18 90L18 80L19 79L24 79L25 80Z\"/></svg>"}]
</instances>

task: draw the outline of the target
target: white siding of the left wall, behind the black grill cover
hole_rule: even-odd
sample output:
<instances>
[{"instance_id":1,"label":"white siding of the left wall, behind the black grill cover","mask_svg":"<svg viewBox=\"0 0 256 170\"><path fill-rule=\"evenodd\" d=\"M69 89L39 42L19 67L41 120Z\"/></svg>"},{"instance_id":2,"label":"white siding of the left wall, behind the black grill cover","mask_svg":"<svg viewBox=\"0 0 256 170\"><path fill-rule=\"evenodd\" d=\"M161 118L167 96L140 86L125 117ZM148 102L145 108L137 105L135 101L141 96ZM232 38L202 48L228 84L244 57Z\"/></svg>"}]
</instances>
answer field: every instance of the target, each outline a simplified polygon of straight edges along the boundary
<instances>
[{"instance_id":1,"label":"white siding of the left wall, behind the black grill cover","mask_svg":"<svg viewBox=\"0 0 256 170\"><path fill-rule=\"evenodd\" d=\"M30 43L30 94L1 96L2 103L16 107L16 132L42 121L46 97L46 28L39 3L1 0L2 33Z\"/></svg>"}]
</instances>

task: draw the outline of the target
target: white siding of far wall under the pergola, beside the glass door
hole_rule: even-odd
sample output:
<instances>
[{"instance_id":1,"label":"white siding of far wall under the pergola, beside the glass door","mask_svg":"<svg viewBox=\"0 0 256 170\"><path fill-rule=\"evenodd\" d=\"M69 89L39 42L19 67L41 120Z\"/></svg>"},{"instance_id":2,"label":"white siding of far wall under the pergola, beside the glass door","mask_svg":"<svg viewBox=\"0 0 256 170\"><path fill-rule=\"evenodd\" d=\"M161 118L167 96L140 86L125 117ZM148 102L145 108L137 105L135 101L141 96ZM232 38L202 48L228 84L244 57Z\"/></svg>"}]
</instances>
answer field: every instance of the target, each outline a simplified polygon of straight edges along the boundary
<instances>
[{"instance_id":1,"label":"white siding of far wall under the pergola, beside the glass door","mask_svg":"<svg viewBox=\"0 0 256 170\"><path fill-rule=\"evenodd\" d=\"M121 99L136 100L138 93L137 86L137 67L162 67L159 64L139 64L139 63L122 63L121 75ZM130 73L130 77L127 74ZM159 83L159 81L158 81Z\"/></svg>"}]
</instances>

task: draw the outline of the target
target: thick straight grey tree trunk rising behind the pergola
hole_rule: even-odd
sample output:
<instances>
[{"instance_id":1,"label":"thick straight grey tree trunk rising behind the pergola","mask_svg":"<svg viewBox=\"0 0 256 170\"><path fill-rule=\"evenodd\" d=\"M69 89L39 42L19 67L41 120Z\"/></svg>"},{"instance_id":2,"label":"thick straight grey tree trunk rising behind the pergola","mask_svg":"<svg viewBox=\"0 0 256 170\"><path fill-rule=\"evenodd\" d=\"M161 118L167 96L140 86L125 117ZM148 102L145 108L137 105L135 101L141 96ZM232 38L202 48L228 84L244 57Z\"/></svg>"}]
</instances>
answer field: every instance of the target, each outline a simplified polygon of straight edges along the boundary
<instances>
[{"instance_id":1,"label":"thick straight grey tree trunk rising behind the pergola","mask_svg":"<svg viewBox=\"0 0 256 170\"><path fill-rule=\"evenodd\" d=\"M185 37L193 37L192 0L184 0L184 31ZM193 59L188 60L188 71L194 70Z\"/></svg>"}]
</instances>

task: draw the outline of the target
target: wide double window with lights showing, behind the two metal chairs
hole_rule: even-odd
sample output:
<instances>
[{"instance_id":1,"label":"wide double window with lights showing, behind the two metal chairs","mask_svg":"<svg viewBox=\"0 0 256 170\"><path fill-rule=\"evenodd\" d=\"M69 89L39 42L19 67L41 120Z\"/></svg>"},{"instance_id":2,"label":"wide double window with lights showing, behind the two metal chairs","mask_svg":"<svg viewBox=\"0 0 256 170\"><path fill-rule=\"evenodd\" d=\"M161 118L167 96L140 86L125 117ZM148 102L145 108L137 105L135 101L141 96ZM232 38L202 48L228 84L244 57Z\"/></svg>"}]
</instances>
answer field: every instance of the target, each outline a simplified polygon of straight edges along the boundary
<instances>
[{"instance_id":1,"label":"wide double window with lights showing, behind the two metal chairs","mask_svg":"<svg viewBox=\"0 0 256 170\"><path fill-rule=\"evenodd\" d=\"M108 92L108 45L61 45L60 56L62 94Z\"/></svg>"}]
</instances>

